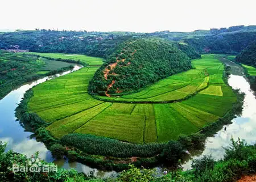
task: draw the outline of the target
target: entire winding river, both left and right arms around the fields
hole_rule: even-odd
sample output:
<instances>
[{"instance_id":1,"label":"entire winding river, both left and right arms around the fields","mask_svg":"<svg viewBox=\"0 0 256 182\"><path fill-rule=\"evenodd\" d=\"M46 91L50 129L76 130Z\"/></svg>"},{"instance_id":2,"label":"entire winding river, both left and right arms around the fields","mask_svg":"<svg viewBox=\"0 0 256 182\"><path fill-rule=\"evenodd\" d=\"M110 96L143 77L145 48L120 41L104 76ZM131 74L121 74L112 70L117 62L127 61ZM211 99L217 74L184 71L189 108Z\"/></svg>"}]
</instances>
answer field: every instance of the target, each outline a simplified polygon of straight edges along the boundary
<instances>
[{"instance_id":1,"label":"entire winding river, both left and right arms around the fields","mask_svg":"<svg viewBox=\"0 0 256 182\"><path fill-rule=\"evenodd\" d=\"M243 70L240 66L230 62L228 60L222 60L226 65L232 67L232 75L229 78L229 84L233 88L239 88L242 92L245 92L245 101L243 104L243 112L241 116L233 119L233 124L226 125L220 132L214 135L214 137L208 137L203 153L198 156L193 156L193 159L201 158L203 155L212 155L214 159L220 159L224 155L224 149L222 147L228 146L230 138L237 139L238 137L245 139L247 143L253 144L256 141L256 99L254 92L250 89L250 84L247 82L243 75ZM30 138L30 132L24 132L22 126L16 121L15 108L22 100L24 93L35 86L36 84L43 83L47 79L54 79L71 73L80 69L80 66L75 66L71 71L65 71L61 74L56 74L49 77L38 79L37 81L30 82L20 86L16 90L11 91L8 95L0 100L0 140L8 142L6 150L14 150L18 153L32 155L36 151L39 151L39 156L45 159L47 162L54 162L59 167L63 168L75 168L79 172L88 173L94 171L94 174L98 177L106 177L115 175L116 172L105 172L97 169L90 168L84 164L77 162L68 162L67 160L55 160L52 158L51 153L46 149L42 142L36 141L34 138ZM226 127L226 130L224 128ZM185 170L191 167L192 160L183 164ZM159 172L161 169L159 169Z\"/></svg>"}]
</instances>

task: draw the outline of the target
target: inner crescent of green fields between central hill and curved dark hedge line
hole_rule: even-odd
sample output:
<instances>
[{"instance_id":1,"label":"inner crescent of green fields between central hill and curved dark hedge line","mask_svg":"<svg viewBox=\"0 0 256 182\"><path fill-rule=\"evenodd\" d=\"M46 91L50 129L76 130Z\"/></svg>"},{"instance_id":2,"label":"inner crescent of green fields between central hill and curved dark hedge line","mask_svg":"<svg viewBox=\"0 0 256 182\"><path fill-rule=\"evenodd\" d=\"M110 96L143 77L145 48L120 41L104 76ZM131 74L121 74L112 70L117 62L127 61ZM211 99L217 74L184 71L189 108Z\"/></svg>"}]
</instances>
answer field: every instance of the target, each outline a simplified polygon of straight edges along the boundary
<instances>
[{"instance_id":1,"label":"inner crescent of green fields between central hill and curved dark hedge line","mask_svg":"<svg viewBox=\"0 0 256 182\"><path fill-rule=\"evenodd\" d=\"M98 96L105 100L116 101L174 101L184 99L208 87L209 83L224 84L222 74L224 66L214 58L214 54L203 55L199 60L192 61L196 69L172 75L134 94L120 97Z\"/></svg>"}]
</instances>

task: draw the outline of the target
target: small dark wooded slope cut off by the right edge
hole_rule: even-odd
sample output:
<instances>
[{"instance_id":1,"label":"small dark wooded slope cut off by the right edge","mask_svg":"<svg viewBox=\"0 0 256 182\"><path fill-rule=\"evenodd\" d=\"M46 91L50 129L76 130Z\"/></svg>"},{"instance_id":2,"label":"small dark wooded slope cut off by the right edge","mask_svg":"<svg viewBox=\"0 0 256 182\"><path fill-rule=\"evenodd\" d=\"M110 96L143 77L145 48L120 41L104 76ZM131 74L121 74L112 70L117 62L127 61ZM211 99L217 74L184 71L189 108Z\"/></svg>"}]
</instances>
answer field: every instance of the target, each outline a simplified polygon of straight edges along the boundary
<instances>
[{"instance_id":1,"label":"small dark wooded slope cut off by the right edge","mask_svg":"<svg viewBox=\"0 0 256 182\"><path fill-rule=\"evenodd\" d=\"M237 55L236 61L256 67L256 40Z\"/></svg>"}]
</instances>

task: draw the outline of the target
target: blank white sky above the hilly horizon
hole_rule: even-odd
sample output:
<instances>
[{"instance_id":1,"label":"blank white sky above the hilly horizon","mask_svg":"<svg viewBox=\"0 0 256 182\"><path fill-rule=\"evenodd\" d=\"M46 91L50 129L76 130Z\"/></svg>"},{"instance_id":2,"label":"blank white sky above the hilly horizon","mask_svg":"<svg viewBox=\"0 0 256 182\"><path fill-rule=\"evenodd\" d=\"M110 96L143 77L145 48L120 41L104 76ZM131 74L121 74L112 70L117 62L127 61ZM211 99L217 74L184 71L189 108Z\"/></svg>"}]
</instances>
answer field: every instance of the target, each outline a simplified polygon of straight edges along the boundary
<instances>
[{"instance_id":1,"label":"blank white sky above the hilly horizon","mask_svg":"<svg viewBox=\"0 0 256 182\"><path fill-rule=\"evenodd\" d=\"M2 2L0 29L191 32L256 24L254 1L13 0Z\"/></svg>"}]
</instances>

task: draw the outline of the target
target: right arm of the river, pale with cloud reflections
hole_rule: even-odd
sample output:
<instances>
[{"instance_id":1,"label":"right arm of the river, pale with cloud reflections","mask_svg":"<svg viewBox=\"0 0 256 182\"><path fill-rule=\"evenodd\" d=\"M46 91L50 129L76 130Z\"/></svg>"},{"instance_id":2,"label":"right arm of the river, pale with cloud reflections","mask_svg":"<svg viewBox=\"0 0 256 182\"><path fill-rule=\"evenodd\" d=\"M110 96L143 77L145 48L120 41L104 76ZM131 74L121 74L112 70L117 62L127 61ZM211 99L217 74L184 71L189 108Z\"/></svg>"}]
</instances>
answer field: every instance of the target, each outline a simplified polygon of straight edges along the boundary
<instances>
[{"instance_id":1,"label":"right arm of the river, pale with cloud reflections","mask_svg":"<svg viewBox=\"0 0 256 182\"><path fill-rule=\"evenodd\" d=\"M223 126L222 130L208 137L205 143L205 150L199 156L194 156L193 159L200 159L203 155L212 155L214 159L221 159L224 155L222 147L229 146L230 139L245 139L249 144L256 142L256 100L254 92L250 89L250 84L246 79L239 75L230 75L229 85L233 88L239 88L244 92L245 100L243 103L243 111L240 117L232 120L233 124ZM226 127L226 131L224 128ZM192 160L189 160L183 165L184 170L191 168Z\"/></svg>"}]
</instances>

